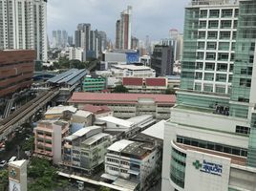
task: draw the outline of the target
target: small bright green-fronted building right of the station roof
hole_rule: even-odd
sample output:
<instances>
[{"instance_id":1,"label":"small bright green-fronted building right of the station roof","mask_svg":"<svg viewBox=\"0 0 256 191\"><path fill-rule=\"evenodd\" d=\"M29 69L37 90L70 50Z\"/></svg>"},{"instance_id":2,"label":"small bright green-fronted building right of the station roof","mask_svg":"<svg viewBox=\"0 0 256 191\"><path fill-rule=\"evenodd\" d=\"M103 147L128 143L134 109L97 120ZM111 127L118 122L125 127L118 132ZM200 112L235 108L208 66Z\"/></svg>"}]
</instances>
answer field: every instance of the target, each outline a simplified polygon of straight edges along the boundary
<instances>
[{"instance_id":1,"label":"small bright green-fronted building right of the station roof","mask_svg":"<svg viewBox=\"0 0 256 191\"><path fill-rule=\"evenodd\" d=\"M83 80L83 92L101 92L106 89L104 77L86 76Z\"/></svg>"}]
</instances>

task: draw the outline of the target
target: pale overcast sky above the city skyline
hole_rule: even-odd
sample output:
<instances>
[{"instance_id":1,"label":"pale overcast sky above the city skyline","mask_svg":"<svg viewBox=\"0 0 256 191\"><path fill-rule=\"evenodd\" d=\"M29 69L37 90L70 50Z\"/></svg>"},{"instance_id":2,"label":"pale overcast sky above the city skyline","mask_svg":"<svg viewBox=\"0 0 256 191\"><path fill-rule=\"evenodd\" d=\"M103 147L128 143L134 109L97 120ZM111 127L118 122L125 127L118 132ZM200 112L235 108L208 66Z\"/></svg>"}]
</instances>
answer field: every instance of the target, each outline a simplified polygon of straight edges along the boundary
<instances>
[{"instance_id":1,"label":"pale overcast sky above the city skyline","mask_svg":"<svg viewBox=\"0 0 256 191\"><path fill-rule=\"evenodd\" d=\"M74 35L78 23L91 23L93 30L107 32L115 41L120 12L133 7L132 35L160 40L172 28L182 32L184 7L189 0L49 0L48 32L66 30Z\"/></svg>"}]
</instances>

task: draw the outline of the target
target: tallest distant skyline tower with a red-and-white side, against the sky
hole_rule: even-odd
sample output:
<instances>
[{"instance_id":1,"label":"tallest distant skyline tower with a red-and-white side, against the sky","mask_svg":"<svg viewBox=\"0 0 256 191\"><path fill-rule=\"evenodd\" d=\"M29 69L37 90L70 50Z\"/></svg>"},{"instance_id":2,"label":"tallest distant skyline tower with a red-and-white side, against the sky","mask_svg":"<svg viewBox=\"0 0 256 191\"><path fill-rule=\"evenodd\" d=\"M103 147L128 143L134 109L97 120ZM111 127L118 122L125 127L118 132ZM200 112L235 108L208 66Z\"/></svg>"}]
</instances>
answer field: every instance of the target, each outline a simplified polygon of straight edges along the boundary
<instances>
[{"instance_id":1,"label":"tallest distant skyline tower with a red-and-white side, against the sky","mask_svg":"<svg viewBox=\"0 0 256 191\"><path fill-rule=\"evenodd\" d=\"M132 42L132 7L122 11L116 24L116 49L131 49Z\"/></svg>"}]
</instances>

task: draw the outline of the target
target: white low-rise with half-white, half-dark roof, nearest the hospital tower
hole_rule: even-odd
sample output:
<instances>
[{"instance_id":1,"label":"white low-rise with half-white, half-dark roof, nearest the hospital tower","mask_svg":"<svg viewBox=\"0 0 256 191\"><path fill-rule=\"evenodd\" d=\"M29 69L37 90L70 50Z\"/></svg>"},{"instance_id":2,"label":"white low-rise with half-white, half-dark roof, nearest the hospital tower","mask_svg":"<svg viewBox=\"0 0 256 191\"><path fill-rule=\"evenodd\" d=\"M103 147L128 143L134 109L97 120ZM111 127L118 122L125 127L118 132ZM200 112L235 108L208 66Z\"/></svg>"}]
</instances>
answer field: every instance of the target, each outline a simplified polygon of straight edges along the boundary
<instances>
[{"instance_id":1,"label":"white low-rise with half-white, half-dark roof, nearest the hospital tower","mask_svg":"<svg viewBox=\"0 0 256 191\"><path fill-rule=\"evenodd\" d=\"M155 170L159 157L154 144L119 140L107 149L103 177L107 179L107 175L110 175L114 184L119 178L137 182L138 189L142 189L148 183L148 176Z\"/></svg>"}]
</instances>

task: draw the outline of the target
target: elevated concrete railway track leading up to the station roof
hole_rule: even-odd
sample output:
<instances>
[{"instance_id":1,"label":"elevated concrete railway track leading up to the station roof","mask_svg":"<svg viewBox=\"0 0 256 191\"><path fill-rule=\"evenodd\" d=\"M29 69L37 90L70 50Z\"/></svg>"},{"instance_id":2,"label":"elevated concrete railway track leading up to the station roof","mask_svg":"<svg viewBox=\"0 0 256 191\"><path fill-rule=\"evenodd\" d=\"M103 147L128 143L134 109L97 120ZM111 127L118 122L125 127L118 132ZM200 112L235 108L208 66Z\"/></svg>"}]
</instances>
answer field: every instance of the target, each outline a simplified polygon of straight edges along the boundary
<instances>
[{"instance_id":1,"label":"elevated concrete railway track leading up to the station roof","mask_svg":"<svg viewBox=\"0 0 256 191\"><path fill-rule=\"evenodd\" d=\"M14 130L30 119L38 110L43 108L54 96L59 94L57 88L41 93L34 99L18 108L9 117L0 121L0 140L8 138Z\"/></svg>"}]
</instances>

